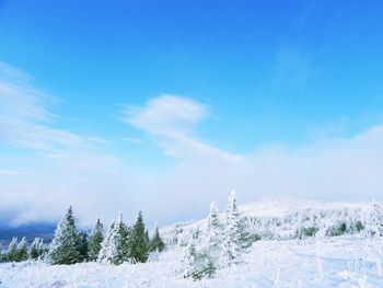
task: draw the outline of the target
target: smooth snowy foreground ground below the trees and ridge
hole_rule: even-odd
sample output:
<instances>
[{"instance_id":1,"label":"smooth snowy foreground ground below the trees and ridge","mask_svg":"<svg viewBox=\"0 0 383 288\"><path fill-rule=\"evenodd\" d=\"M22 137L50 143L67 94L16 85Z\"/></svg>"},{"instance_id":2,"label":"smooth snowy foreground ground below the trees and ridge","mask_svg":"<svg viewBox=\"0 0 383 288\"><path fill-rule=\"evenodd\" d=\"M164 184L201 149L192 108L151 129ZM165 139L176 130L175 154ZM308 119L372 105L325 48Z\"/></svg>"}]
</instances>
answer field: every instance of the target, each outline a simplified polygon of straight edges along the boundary
<instances>
[{"instance_id":1,"label":"smooth snowy foreground ground below the trees and ridge","mask_svg":"<svg viewBox=\"0 0 383 288\"><path fill-rule=\"evenodd\" d=\"M182 255L176 247L146 264L119 266L0 264L0 287L383 287L383 238L258 241L243 264L201 281L181 278Z\"/></svg>"}]
</instances>

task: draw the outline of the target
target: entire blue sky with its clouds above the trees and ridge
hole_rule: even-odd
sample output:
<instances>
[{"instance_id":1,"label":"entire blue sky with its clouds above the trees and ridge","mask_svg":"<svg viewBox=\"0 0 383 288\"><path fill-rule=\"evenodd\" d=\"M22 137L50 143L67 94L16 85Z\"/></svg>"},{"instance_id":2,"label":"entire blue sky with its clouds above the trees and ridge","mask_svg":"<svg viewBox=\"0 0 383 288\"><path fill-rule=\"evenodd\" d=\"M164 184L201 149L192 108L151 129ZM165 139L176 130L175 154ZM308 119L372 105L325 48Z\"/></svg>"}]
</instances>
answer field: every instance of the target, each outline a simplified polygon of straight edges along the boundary
<instances>
[{"instance_id":1,"label":"entire blue sky with its clouds above the trees and ridge","mask_svg":"<svg viewBox=\"0 0 383 288\"><path fill-rule=\"evenodd\" d=\"M351 158L359 155L363 171L349 171L345 181L358 174L358 183L372 183L369 197L379 197L380 166L376 157L369 162L364 154L371 140L359 141L375 139L383 123L382 8L379 1L326 0L0 1L0 183L8 203L0 212L16 222L57 217L36 212L49 200L20 215L27 205L15 199L48 194L62 186L66 173L70 185L61 194L49 192L61 195L58 207L78 201L80 191L92 195L95 185L105 215L124 209L116 203L101 208L111 182L129 209L147 207L148 198L162 198L165 189L210 191L187 211L179 204L172 217L163 207L148 216L163 222L199 217L204 203L223 204L239 187L243 200L286 186L287 196L364 199L364 184L347 194L350 184L334 185L334 173L327 174L338 149L350 154L336 163L359 163ZM305 176L307 185L312 178L328 182L322 192L330 193L289 182L315 163L312 158L322 160ZM246 164L234 170L231 161ZM225 165L211 181L190 173ZM286 182L266 177L280 187L254 181L270 168L286 174L297 166ZM229 171L233 180L222 182ZM100 175L104 188L92 183ZM131 191L126 178L136 185ZM347 197L334 196L339 187ZM85 217L85 203L78 207Z\"/></svg>"}]
</instances>

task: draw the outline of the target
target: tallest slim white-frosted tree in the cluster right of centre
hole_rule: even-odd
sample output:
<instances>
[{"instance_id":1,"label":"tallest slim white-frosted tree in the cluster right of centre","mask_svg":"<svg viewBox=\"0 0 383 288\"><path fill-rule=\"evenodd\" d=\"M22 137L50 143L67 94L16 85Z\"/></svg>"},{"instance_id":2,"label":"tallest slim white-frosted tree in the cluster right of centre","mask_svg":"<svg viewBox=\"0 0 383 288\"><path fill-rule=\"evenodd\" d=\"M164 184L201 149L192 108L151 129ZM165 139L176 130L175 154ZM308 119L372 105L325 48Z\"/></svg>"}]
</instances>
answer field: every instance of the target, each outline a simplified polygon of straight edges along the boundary
<instances>
[{"instance_id":1,"label":"tallest slim white-frosted tree in the cluster right of centre","mask_svg":"<svg viewBox=\"0 0 383 288\"><path fill-rule=\"evenodd\" d=\"M239 261L242 249L241 237L243 234L234 191L230 194L225 217L222 261L224 265L230 266Z\"/></svg>"}]
</instances>

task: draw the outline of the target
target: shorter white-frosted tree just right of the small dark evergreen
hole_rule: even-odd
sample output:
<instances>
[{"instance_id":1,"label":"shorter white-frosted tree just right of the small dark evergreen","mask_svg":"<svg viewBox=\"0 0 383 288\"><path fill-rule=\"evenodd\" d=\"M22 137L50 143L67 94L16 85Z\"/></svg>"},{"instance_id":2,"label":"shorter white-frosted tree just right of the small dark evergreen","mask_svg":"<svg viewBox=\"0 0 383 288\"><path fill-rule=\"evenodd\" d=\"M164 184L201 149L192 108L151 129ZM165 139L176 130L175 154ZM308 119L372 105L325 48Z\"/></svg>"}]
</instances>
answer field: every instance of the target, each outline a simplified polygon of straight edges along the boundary
<instances>
[{"instance_id":1,"label":"shorter white-frosted tree just right of the small dark evergreen","mask_svg":"<svg viewBox=\"0 0 383 288\"><path fill-rule=\"evenodd\" d=\"M97 262L103 264L117 264L118 257L118 230L115 221L112 222L106 232L104 241L101 243Z\"/></svg>"}]
</instances>

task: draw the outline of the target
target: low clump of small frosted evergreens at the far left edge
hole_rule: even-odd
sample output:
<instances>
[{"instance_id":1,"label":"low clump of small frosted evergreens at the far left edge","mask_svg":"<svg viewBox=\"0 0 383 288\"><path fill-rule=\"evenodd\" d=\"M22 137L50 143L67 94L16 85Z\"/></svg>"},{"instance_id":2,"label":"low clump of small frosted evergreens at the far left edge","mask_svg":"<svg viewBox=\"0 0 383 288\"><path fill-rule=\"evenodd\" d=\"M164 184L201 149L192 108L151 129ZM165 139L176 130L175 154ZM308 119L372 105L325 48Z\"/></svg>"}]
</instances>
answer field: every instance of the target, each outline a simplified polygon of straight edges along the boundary
<instances>
[{"instance_id":1,"label":"low clump of small frosted evergreens at the far left edge","mask_svg":"<svg viewBox=\"0 0 383 288\"><path fill-rule=\"evenodd\" d=\"M36 238L30 247L27 246L25 238L23 238L20 242L18 241L18 238L13 238L7 252L0 251L0 262L37 260L43 257L47 251L47 245L45 245L43 240L39 238Z\"/></svg>"}]
</instances>

